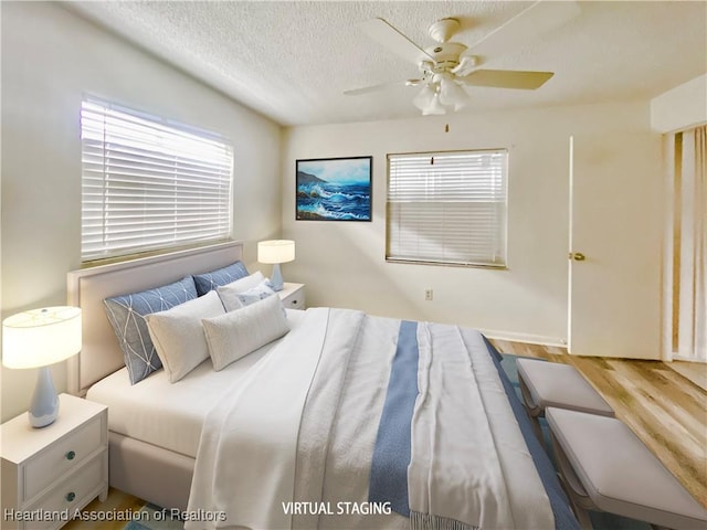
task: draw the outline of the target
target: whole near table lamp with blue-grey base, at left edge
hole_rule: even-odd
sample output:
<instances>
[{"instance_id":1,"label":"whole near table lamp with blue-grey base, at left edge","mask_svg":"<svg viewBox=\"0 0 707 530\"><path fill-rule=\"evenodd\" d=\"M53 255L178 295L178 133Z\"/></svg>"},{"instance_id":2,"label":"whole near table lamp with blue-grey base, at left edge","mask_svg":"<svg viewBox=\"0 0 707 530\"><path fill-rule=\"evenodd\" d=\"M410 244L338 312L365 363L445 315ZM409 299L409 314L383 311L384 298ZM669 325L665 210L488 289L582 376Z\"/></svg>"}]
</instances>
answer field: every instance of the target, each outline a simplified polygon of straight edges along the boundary
<instances>
[{"instance_id":1,"label":"whole near table lamp with blue-grey base, at left edge","mask_svg":"<svg viewBox=\"0 0 707 530\"><path fill-rule=\"evenodd\" d=\"M81 309L57 306L18 312L2 321L2 363L8 368L39 368L32 404L33 427L56 420L59 398L49 365L81 351Z\"/></svg>"}]
</instances>

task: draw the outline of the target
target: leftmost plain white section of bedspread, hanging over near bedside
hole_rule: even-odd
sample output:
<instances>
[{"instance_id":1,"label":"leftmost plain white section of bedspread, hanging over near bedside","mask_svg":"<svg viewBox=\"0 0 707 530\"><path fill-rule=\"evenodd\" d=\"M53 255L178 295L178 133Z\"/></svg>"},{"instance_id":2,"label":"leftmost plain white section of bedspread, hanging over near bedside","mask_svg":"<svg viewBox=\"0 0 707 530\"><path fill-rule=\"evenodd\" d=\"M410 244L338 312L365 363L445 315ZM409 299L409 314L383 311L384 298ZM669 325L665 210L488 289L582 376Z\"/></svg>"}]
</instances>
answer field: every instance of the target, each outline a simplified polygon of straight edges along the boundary
<instances>
[{"instance_id":1,"label":"leftmost plain white section of bedspread, hanging over near bedside","mask_svg":"<svg viewBox=\"0 0 707 530\"><path fill-rule=\"evenodd\" d=\"M284 529L292 516L297 434L327 331L329 314L308 311L207 415L188 511L224 512L224 520L187 521L186 530L217 527Z\"/></svg>"}]
</instances>

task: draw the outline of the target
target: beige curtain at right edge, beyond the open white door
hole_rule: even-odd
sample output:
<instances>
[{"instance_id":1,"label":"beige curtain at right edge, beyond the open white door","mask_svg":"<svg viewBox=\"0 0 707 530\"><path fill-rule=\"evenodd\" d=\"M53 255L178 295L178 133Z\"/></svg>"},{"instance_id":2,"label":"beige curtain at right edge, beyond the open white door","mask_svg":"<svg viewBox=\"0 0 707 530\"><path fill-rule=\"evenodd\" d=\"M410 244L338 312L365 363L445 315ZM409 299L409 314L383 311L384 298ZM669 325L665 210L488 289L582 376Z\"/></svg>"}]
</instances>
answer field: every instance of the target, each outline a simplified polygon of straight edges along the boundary
<instances>
[{"instance_id":1,"label":"beige curtain at right edge, beyond the open white door","mask_svg":"<svg viewBox=\"0 0 707 530\"><path fill-rule=\"evenodd\" d=\"M707 126L668 138L664 360L707 362Z\"/></svg>"}]
</instances>

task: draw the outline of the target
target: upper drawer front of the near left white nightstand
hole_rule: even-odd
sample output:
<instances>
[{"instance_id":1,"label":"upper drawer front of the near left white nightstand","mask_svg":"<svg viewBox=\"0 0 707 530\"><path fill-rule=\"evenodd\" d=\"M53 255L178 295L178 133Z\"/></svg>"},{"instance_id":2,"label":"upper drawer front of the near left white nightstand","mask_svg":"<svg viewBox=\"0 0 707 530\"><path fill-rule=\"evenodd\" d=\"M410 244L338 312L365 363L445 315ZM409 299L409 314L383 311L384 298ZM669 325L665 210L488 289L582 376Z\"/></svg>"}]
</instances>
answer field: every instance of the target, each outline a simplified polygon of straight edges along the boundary
<instances>
[{"instance_id":1,"label":"upper drawer front of the near left white nightstand","mask_svg":"<svg viewBox=\"0 0 707 530\"><path fill-rule=\"evenodd\" d=\"M99 414L81 427L46 447L24 466L24 498L28 501L56 478L81 466L92 453L105 444Z\"/></svg>"}]
</instances>

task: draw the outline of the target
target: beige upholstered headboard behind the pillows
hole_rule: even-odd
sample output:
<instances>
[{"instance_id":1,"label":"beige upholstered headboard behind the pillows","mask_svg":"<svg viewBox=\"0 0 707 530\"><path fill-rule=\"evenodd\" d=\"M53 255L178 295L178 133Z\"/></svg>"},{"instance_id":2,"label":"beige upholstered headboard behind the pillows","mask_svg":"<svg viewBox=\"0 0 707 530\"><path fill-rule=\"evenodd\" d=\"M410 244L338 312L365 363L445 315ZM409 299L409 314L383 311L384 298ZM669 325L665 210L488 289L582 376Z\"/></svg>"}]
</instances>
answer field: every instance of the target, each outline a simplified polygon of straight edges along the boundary
<instances>
[{"instance_id":1,"label":"beige upholstered headboard behind the pillows","mask_svg":"<svg viewBox=\"0 0 707 530\"><path fill-rule=\"evenodd\" d=\"M123 350L105 314L105 298L207 273L241 259L242 255L241 242L228 242L70 272L68 304L82 308L83 348L68 360L67 391L84 395L92 384L125 365Z\"/></svg>"}]
</instances>

